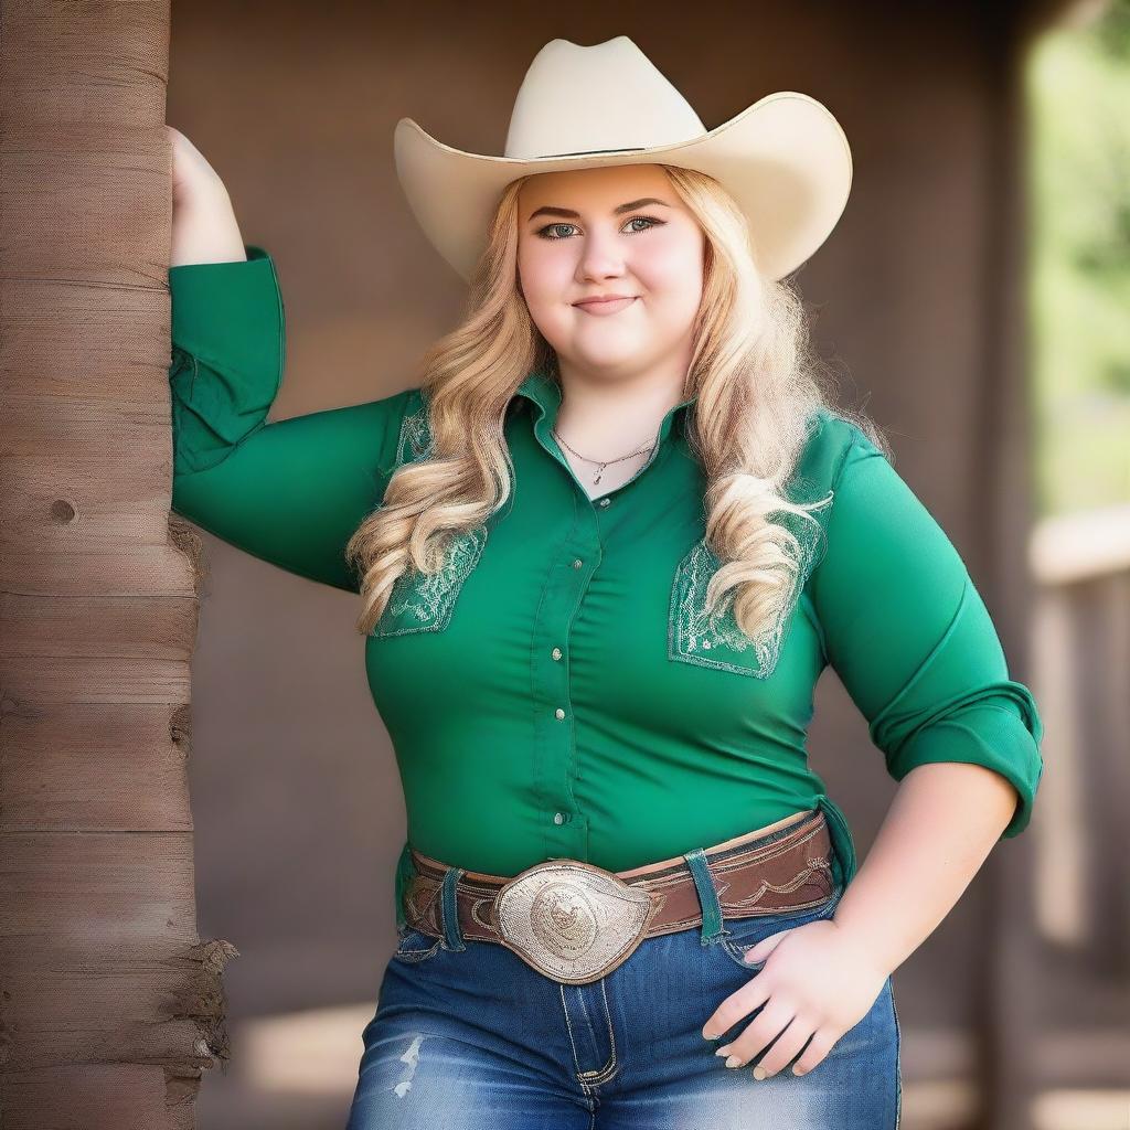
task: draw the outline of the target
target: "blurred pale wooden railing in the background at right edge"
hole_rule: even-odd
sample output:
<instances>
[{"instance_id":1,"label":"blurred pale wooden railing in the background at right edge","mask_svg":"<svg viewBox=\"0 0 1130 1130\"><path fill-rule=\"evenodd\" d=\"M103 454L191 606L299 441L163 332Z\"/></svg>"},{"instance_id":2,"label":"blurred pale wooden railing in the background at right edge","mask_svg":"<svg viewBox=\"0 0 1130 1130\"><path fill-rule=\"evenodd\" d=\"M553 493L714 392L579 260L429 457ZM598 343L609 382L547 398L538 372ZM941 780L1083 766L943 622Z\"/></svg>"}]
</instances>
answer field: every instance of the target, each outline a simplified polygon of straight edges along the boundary
<instances>
[{"instance_id":1,"label":"blurred pale wooden railing in the background at right edge","mask_svg":"<svg viewBox=\"0 0 1130 1130\"><path fill-rule=\"evenodd\" d=\"M1130 505L1046 519L1029 563L1044 777L1036 915L1096 974L1130 974Z\"/></svg>"}]
</instances>

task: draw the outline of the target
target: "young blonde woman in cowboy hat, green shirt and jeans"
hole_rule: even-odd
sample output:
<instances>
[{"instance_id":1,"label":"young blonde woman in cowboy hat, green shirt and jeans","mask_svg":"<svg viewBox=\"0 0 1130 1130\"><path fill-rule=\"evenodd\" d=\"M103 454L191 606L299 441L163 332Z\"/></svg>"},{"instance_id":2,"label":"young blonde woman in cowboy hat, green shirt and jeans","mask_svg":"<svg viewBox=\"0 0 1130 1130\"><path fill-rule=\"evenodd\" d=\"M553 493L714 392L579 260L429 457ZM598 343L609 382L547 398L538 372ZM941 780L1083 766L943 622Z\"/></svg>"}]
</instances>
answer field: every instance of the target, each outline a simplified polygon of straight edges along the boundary
<instances>
[{"instance_id":1,"label":"young blonde woman in cowboy hat, green shirt and jeans","mask_svg":"<svg viewBox=\"0 0 1130 1130\"><path fill-rule=\"evenodd\" d=\"M466 316L277 423L275 266L173 142L173 508L360 596L405 789L350 1130L897 1125L890 973L1027 825L1042 727L780 281L845 205L835 120L706 132L619 36L542 49L503 158L402 121ZM902 782L862 868L827 666Z\"/></svg>"}]
</instances>

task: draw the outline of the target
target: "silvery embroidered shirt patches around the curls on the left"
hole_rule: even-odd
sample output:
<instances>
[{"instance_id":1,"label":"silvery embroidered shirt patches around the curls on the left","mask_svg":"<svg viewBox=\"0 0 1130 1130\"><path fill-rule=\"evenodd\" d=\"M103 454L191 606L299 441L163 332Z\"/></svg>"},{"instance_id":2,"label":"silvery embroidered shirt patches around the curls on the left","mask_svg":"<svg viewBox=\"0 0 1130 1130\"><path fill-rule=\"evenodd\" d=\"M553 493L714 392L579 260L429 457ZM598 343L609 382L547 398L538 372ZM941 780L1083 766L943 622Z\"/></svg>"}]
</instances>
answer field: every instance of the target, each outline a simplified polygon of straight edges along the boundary
<instances>
[{"instance_id":1,"label":"silvery embroidered shirt patches around the curls on the left","mask_svg":"<svg viewBox=\"0 0 1130 1130\"><path fill-rule=\"evenodd\" d=\"M406 412L401 420L397 468L406 462L429 459L432 449L427 405L421 400L419 408ZM485 527L457 534L451 539L446 559L437 573L419 573L409 566L397 577L389 603L370 635L383 637L410 632L442 632L451 619L463 582L478 564L486 538Z\"/></svg>"}]
</instances>

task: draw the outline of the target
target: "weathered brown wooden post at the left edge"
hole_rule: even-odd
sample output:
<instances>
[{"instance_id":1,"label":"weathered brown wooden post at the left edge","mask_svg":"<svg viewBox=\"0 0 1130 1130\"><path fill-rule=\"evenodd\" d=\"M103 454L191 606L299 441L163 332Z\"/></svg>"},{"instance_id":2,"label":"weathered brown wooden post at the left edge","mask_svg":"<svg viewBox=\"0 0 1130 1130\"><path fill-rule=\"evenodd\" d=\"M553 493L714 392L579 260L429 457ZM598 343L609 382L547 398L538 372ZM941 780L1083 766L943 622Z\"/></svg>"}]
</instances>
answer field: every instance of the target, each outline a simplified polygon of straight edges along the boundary
<instances>
[{"instance_id":1,"label":"weathered brown wooden post at the left edge","mask_svg":"<svg viewBox=\"0 0 1130 1130\"><path fill-rule=\"evenodd\" d=\"M193 897L168 5L0 27L0 1116L186 1130L235 950Z\"/></svg>"}]
</instances>

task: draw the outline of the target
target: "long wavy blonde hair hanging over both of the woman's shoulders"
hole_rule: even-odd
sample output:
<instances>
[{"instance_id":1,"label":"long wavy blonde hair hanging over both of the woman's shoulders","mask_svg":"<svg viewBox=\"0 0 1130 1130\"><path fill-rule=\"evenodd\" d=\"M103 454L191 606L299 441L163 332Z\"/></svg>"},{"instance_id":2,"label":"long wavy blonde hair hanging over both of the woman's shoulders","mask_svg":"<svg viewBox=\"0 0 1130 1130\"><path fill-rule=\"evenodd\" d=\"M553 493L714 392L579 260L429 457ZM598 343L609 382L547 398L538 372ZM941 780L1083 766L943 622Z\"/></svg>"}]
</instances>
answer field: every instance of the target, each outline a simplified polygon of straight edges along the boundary
<instances>
[{"instance_id":1,"label":"long wavy blonde hair hanging over both of the woman's shoulders","mask_svg":"<svg viewBox=\"0 0 1130 1130\"><path fill-rule=\"evenodd\" d=\"M704 173L660 167L706 237L683 399L697 395L686 434L707 484L706 544L721 565L707 586L707 611L732 608L739 629L756 640L786 610L806 566L801 540L772 515L818 527L810 512L832 501L794 503L784 493L814 414L831 407L824 389L832 377L811 349L799 295L757 270L745 216L730 194ZM346 546L362 577L358 632L373 629L402 573L438 572L451 541L510 497L506 406L533 368L556 372L556 355L519 282L518 199L525 180L511 182L498 202L460 324L421 359L431 458L397 469L381 506ZM835 412L889 452L866 416Z\"/></svg>"}]
</instances>

